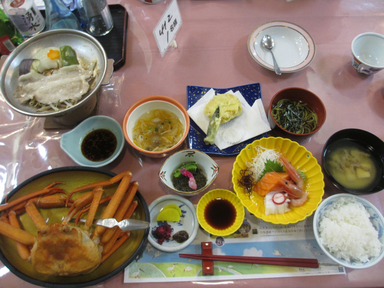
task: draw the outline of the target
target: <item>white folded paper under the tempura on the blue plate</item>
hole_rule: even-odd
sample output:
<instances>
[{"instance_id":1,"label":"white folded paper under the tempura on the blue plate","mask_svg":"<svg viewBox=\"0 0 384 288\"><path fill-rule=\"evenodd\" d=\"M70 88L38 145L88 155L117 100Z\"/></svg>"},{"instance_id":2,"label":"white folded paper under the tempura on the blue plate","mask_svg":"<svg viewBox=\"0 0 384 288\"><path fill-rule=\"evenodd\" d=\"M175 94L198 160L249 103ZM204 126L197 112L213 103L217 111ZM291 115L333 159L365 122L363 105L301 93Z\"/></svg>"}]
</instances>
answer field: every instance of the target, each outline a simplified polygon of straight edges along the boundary
<instances>
[{"instance_id":1,"label":"white folded paper under the tempura on the blue plate","mask_svg":"<svg viewBox=\"0 0 384 288\"><path fill-rule=\"evenodd\" d=\"M257 99L251 107L239 91L233 93L230 90L227 93L237 96L243 111L239 116L224 123L218 129L215 144L219 149L223 150L271 130L261 99ZM215 90L211 88L187 111L190 118L195 121L205 134L207 134L210 119L205 116L204 107L213 96L215 96Z\"/></svg>"}]
</instances>

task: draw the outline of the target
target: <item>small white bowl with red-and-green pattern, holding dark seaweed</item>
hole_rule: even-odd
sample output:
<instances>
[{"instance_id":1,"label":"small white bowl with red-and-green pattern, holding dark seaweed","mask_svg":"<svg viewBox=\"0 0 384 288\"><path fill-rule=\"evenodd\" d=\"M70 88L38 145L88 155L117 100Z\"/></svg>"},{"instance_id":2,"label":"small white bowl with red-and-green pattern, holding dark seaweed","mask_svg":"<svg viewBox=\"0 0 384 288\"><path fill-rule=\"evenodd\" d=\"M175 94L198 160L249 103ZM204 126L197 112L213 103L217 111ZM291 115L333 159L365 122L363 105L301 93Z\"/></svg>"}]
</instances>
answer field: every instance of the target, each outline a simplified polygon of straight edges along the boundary
<instances>
[{"instance_id":1,"label":"small white bowl with red-and-green pattern, holding dark seaweed","mask_svg":"<svg viewBox=\"0 0 384 288\"><path fill-rule=\"evenodd\" d=\"M199 164L200 168L202 168L202 170L205 172L205 175L207 176L207 184L203 188L193 192L183 192L175 189L174 185L172 184L172 173L181 164L192 161ZM219 168L215 161L213 161L212 158L204 152L195 149L184 149L172 154L172 156L170 156L166 162L164 162L163 166L161 166L159 170L159 179L172 191L183 196L192 196L207 189L209 185L214 182L218 174L218 170Z\"/></svg>"}]
</instances>

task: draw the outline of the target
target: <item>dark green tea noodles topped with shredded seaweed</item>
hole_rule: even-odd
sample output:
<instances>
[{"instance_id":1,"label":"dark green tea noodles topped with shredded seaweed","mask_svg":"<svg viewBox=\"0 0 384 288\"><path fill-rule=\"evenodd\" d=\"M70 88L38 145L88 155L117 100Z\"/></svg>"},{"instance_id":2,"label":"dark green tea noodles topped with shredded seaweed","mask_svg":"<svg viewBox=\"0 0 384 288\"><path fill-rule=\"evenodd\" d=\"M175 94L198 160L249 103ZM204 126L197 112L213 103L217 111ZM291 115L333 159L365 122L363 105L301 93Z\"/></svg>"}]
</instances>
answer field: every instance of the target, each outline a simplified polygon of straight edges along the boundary
<instances>
[{"instance_id":1,"label":"dark green tea noodles topped with shredded seaweed","mask_svg":"<svg viewBox=\"0 0 384 288\"><path fill-rule=\"evenodd\" d=\"M281 99L271 111L273 119L289 132L305 134L316 129L317 115L305 103Z\"/></svg>"}]
</instances>

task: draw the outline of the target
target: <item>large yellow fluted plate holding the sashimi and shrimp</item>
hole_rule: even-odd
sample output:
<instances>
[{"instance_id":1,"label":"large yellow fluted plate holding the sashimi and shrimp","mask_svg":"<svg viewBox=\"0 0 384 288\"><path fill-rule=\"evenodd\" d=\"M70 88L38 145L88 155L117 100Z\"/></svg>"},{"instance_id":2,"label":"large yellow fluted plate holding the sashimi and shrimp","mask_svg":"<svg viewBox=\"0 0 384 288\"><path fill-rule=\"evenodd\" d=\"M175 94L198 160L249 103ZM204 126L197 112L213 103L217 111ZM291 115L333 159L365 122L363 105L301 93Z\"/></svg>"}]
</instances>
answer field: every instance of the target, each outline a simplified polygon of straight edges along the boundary
<instances>
[{"instance_id":1,"label":"large yellow fluted plate holding the sashimi and shrimp","mask_svg":"<svg viewBox=\"0 0 384 288\"><path fill-rule=\"evenodd\" d=\"M284 214L271 214L266 216L264 214L264 197L258 195L256 192L253 192L252 195L249 196L244 188L238 185L240 170L248 167L247 163L251 162L257 155L255 147L258 145L267 149L276 149L278 152L280 152L281 149L281 152L288 157L292 166L305 173L306 180L304 182L304 190L308 194L308 199L303 206L291 207L291 210ZM262 138L248 144L240 154L238 154L235 163L233 163L232 183L237 196L250 213L254 214L257 218L274 224L286 225L304 220L306 217L312 215L321 203L321 198L324 195L324 175L321 172L321 167L316 158L297 142L281 137Z\"/></svg>"}]
</instances>

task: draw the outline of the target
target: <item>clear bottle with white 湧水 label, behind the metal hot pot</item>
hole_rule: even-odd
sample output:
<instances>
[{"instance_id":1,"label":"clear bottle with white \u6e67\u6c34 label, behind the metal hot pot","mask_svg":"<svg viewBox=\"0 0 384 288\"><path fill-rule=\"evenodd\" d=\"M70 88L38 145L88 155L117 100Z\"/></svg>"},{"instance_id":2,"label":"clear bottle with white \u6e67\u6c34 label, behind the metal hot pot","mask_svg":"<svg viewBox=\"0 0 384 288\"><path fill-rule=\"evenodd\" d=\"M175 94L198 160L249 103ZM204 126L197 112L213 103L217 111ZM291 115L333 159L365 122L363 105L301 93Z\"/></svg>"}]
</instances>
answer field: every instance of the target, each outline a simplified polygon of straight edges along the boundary
<instances>
[{"instance_id":1,"label":"clear bottle with white \u6e67\u6c34 label, behind the metal hot pot","mask_svg":"<svg viewBox=\"0 0 384 288\"><path fill-rule=\"evenodd\" d=\"M45 21L33 0L1 0L4 12L25 37L43 31Z\"/></svg>"}]
</instances>

